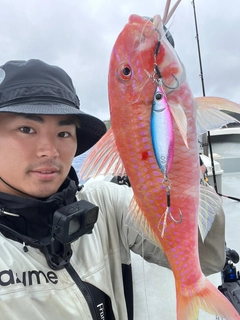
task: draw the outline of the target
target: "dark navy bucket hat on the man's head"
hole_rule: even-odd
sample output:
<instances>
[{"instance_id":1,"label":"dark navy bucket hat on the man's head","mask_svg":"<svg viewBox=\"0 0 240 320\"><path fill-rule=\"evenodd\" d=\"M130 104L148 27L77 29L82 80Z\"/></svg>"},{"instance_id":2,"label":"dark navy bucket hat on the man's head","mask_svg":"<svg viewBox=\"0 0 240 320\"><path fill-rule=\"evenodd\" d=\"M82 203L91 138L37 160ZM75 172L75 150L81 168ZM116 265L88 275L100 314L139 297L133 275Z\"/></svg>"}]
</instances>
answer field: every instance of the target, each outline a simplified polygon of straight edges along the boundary
<instances>
[{"instance_id":1,"label":"dark navy bucket hat on the man's head","mask_svg":"<svg viewBox=\"0 0 240 320\"><path fill-rule=\"evenodd\" d=\"M79 119L76 155L90 149L106 132L98 118L80 110L68 74L41 60L9 61L0 67L0 113L74 115Z\"/></svg>"}]
</instances>

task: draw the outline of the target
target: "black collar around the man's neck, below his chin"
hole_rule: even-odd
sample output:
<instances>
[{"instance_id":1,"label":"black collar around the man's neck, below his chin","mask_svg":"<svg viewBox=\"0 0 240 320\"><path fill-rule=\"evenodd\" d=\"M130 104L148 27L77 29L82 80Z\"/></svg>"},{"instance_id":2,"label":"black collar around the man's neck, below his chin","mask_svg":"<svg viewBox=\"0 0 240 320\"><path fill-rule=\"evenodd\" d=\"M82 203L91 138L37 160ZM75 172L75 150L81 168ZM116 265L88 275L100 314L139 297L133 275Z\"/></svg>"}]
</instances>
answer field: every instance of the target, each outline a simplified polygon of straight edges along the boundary
<instances>
[{"instance_id":1,"label":"black collar around the man's neck, below his chin","mask_svg":"<svg viewBox=\"0 0 240 320\"><path fill-rule=\"evenodd\" d=\"M0 223L5 224L18 233L35 239L41 239L50 234L54 212L75 200L78 190L76 181L69 177L64 181L59 191L46 199L31 199L9 195L0 192L0 210L17 214L0 215ZM12 236L3 232L5 236Z\"/></svg>"}]
</instances>

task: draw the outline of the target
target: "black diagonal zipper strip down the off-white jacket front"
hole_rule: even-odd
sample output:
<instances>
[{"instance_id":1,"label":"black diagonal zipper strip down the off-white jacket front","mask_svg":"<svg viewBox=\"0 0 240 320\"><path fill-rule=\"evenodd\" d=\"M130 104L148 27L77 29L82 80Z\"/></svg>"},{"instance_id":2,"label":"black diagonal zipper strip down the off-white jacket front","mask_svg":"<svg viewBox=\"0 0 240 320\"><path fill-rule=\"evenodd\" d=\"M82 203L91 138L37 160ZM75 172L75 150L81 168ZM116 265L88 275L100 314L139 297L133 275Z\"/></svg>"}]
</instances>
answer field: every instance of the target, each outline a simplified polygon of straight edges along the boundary
<instances>
[{"instance_id":1,"label":"black diagonal zipper strip down the off-white jacket front","mask_svg":"<svg viewBox=\"0 0 240 320\"><path fill-rule=\"evenodd\" d=\"M85 285L85 283L81 280L81 278L79 277L79 275L77 274L76 270L73 268L73 266L68 263L65 266L65 269L67 270L67 272L69 273L69 275L71 276L71 278L73 279L73 281L76 283L76 285L78 286L79 290L82 292L88 307L90 309L91 315L93 320L99 320L100 318L98 317L98 313L96 311L96 308L94 306L94 299L92 297L91 292L89 291L88 287Z\"/></svg>"}]
</instances>

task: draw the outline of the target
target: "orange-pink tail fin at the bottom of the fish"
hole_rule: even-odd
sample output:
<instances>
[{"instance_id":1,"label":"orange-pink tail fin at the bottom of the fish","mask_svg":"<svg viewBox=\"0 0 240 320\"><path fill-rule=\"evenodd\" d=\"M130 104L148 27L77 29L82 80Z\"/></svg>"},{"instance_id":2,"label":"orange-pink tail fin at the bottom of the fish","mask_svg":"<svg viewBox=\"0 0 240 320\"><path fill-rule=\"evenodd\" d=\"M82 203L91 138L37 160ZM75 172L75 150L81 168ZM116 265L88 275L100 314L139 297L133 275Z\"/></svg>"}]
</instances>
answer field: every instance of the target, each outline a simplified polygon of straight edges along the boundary
<instances>
[{"instance_id":1,"label":"orange-pink tail fin at the bottom of the fish","mask_svg":"<svg viewBox=\"0 0 240 320\"><path fill-rule=\"evenodd\" d=\"M202 289L201 289L202 288ZM240 319L229 300L207 279L187 294L177 290L177 320L197 320L199 309L227 320Z\"/></svg>"}]
</instances>

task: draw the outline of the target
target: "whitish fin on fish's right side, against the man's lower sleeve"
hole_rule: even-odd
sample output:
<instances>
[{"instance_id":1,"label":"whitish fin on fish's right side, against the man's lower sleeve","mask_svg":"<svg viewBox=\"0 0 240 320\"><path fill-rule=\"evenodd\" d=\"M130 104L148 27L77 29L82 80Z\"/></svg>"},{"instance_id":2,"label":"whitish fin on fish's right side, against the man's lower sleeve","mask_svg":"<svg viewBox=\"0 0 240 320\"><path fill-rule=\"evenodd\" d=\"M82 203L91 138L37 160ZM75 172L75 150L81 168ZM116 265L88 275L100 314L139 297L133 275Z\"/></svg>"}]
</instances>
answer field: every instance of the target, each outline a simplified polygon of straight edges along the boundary
<instances>
[{"instance_id":1,"label":"whitish fin on fish's right side, against the man's lower sleeve","mask_svg":"<svg viewBox=\"0 0 240 320\"><path fill-rule=\"evenodd\" d=\"M221 206L222 199L214 188L210 185L200 185L198 227L203 242Z\"/></svg>"}]
</instances>

